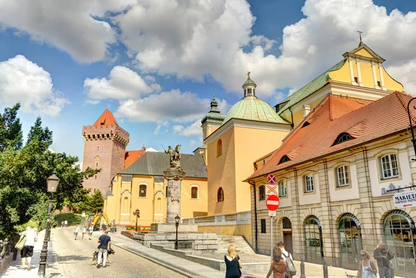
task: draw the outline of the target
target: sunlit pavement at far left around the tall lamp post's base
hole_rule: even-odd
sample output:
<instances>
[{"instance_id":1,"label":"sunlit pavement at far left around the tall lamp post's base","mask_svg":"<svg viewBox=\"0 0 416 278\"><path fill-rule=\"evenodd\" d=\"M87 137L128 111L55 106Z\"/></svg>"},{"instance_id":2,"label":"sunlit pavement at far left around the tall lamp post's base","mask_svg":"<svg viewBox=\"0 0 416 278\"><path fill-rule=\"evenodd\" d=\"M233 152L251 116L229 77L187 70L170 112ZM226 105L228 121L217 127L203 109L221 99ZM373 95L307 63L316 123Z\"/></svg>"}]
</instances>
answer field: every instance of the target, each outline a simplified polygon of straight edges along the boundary
<instances>
[{"instance_id":1,"label":"sunlit pavement at far left around the tall lamp post's base","mask_svg":"<svg viewBox=\"0 0 416 278\"><path fill-rule=\"evenodd\" d=\"M62 266L58 262L56 251L54 249L53 236L54 229L51 230L51 241L48 243L48 259L46 264L46 277L60 278L62 275ZM31 270L21 269L21 258L20 252L17 254L16 261L12 261L10 266L3 272L0 273L0 277L4 278L37 278L37 271L39 270L40 252L44 243L45 231L41 231L37 235L37 242L33 248L33 257L31 262ZM26 265L27 266L27 265Z\"/></svg>"}]
</instances>

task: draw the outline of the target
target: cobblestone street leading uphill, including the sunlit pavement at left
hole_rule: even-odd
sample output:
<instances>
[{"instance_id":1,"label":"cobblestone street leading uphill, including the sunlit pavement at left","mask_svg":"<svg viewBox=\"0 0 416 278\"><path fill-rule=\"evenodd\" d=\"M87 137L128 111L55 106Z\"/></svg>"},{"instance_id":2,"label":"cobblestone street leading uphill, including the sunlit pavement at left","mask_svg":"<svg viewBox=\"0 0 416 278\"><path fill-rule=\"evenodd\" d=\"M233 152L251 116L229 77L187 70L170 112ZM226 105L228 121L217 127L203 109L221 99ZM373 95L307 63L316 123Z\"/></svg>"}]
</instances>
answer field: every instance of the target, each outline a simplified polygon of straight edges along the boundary
<instances>
[{"instance_id":1,"label":"cobblestone street leading uphill, including the sunlit pavement at left","mask_svg":"<svg viewBox=\"0 0 416 278\"><path fill-rule=\"evenodd\" d=\"M111 234L110 234L111 236ZM33 268L31 270L21 270L20 259L12 263L12 266L1 275L7 278L30 278L37 277L40 249L42 249L42 242L44 233L40 234L39 241L35 246L35 254L33 257ZM110 259L112 263L107 268L97 269L91 265L92 253L96 250L98 245L97 238L92 237L91 240L82 240L82 235L78 234L78 239L73 239L73 227L56 228L51 232L51 243L56 252L56 260L53 263L53 258L49 252L49 261L46 268L46 277L65 277L65 278L90 278L90 277L183 277L182 275L168 270L163 266L148 261L142 257L125 251L119 247L112 246L116 254L112 255ZM36 249L38 251L36 251ZM52 260L51 260L52 259Z\"/></svg>"}]
</instances>

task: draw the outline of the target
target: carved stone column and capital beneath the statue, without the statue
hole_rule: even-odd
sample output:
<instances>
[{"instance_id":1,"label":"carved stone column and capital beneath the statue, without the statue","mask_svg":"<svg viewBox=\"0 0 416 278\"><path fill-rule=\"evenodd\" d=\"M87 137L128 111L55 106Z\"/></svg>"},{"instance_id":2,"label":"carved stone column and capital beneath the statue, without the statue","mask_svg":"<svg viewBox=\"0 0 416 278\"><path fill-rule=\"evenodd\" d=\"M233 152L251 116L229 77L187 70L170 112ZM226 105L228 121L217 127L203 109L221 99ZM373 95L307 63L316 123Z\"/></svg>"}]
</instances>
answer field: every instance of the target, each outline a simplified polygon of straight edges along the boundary
<instances>
[{"instance_id":1,"label":"carved stone column and capital beneath the statue, without the statue","mask_svg":"<svg viewBox=\"0 0 416 278\"><path fill-rule=\"evenodd\" d=\"M163 173L166 180L168 180L166 223L175 224L175 216L180 216L180 189L185 172L181 168L167 168Z\"/></svg>"}]
</instances>

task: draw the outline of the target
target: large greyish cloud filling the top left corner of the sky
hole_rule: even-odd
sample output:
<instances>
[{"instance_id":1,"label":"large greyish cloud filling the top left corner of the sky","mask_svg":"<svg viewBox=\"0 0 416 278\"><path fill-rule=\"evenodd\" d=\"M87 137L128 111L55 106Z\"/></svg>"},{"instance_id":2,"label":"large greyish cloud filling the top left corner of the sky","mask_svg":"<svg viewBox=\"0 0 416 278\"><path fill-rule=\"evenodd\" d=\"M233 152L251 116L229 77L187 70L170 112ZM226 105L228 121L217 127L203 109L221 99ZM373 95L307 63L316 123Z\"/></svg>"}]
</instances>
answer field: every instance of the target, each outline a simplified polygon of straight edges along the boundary
<instances>
[{"instance_id":1,"label":"large greyish cloud filling the top left corner of the sky","mask_svg":"<svg viewBox=\"0 0 416 278\"><path fill-rule=\"evenodd\" d=\"M78 62L103 60L116 31L106 21L135 0L0 1L0 27L68 52Z\"/></svg>"}]
</instances>

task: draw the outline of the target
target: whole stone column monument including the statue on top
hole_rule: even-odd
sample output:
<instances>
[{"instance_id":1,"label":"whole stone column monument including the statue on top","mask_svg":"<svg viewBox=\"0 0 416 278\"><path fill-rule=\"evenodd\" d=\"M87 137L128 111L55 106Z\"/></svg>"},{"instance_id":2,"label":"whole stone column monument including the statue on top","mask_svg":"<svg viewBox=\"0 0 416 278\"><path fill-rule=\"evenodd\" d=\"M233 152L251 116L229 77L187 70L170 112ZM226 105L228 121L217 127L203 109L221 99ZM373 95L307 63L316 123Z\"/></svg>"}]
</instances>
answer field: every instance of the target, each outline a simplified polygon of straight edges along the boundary
<instances>
[{"instance_id":1,"label":"whole stone column monument including the statue on top","mask_svg":"<svg viewBox=\"0 0 416 278\"><path fill-rule=\"evenodd\" d=\"M170 159L170 167L163 171L164 177L168 181L166 223L175 224L175 216L180 216L181 182L185 177L185 172L180 168L180 145L177 145L175 150L169 146L165 153L169 155Z\"/></svg>"}]
</instances>

